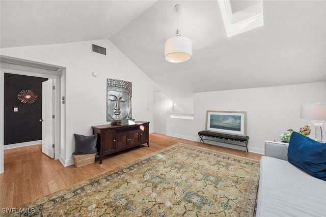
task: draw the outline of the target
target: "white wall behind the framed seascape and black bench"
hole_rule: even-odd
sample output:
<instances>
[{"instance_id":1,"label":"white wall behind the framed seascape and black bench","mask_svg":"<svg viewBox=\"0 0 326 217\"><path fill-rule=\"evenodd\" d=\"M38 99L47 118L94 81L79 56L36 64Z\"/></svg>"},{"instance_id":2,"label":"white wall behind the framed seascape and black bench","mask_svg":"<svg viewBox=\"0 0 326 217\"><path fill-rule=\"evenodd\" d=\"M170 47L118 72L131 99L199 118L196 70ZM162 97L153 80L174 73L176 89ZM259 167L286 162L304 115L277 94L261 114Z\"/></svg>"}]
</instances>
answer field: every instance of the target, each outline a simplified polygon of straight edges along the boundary
<instances>
[{"instance_id":1,"label":"white wall behind the framed seascape and black bench","mask_svg":"<svg viewBox=\"0 0 326 217\"><path fill-rule=\"evenodd\" d=\"M325 82L316 82L196 93L194 120L168 118L167 135L199 141L197 133L205 130L207 110L231 110L247 111L249 151L263 153L265 140L278 141L282 132L289 128L298 131L306 124L314 138L315 127L311 121L300 118L300 104L324 103L325 85Z\"/></svg>"}]
</instances>

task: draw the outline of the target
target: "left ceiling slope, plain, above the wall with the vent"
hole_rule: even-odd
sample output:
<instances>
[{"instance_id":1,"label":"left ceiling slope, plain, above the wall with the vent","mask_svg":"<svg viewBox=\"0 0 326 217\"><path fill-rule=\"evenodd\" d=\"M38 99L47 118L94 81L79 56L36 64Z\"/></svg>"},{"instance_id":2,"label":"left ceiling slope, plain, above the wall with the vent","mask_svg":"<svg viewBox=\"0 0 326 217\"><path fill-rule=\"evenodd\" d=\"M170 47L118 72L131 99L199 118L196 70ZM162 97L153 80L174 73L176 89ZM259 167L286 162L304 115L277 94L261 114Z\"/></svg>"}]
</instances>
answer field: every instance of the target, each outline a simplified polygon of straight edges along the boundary
<instances>
[{"instance_id":1,"label":"left ceiling slope, plain, above the wall with the vent","mask_svg":"<svg viewBox=\"0 0 326 217\"><path fill-rule=\"evenodd\" d=\"M108 39L156 1L1 1L1 47Z\"/></svg>"}]
</instances>

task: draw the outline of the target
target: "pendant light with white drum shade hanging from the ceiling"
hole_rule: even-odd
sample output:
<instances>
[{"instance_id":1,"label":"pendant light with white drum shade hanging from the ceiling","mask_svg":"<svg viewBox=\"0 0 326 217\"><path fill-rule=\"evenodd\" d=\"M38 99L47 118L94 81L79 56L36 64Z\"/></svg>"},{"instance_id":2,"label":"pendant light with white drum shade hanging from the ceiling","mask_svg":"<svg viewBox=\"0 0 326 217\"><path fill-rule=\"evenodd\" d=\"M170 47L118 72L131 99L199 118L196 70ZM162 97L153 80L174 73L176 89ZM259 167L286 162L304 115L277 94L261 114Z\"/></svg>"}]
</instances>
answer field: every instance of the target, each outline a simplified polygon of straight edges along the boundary
<instances>
[{"instance_id":1,"label":"pendant light with white drum shade hanging from the ceiling","mask_svg":"<svg viewBox=\"0 0 326 217\"><path fill-rule=\"evenodd\" d=\"M178 28L175 37L165 42L165 59L171 63L183 63L192 58L192 40L180 35L179 31L179 11L180 5L176 5L174 9L178 13Z\"/></svg>"}]
</instances>

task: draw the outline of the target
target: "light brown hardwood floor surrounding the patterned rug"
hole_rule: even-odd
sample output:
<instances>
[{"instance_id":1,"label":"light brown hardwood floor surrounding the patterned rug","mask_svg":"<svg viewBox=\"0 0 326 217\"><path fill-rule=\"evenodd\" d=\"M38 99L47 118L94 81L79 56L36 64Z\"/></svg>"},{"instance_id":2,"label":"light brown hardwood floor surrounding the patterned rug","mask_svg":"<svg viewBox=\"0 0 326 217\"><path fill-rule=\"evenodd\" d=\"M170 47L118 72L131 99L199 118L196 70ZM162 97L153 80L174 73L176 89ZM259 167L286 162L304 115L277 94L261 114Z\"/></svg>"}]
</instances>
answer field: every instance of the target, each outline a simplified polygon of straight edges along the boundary
<instances>
[{"instance_id":1,"label":"light brown hardwood floor surrounding the patterned rug","mask_svg":"<svg viewBox=\"0 0 326 217\"><path fill-rule=\"evenodd\" d=\"M178 142L224 151L244 157L244 151L215 145L198 143L161 134L150 134L150 147L143 145L104 158L101 165L95 164L76 168L64 167L59 160L42 154L42 145L32 145L5 150L5 172L0 174L0 208L16 208L51 193L70 187L85 179L128 164L150 153ZM259 160L261 154L247 154Z\"/></svg>"}]
</instances>

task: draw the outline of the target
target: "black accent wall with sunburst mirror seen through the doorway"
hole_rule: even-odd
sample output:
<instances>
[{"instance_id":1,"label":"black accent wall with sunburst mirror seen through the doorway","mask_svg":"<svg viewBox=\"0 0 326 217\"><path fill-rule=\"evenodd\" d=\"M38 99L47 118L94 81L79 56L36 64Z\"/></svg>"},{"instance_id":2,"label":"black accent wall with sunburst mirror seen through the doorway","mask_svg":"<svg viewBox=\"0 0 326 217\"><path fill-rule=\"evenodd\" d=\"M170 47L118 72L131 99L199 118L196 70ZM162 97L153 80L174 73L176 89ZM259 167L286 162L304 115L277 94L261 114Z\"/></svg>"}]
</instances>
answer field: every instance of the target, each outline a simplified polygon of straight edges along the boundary
<instances>
[{"instance_id":1,"label":"black accent wall with sunburst mirror seen through the doorway","mask_svg":"<svg viewBox=\"0 0 326 217\"><path fill-rule=\"evenodd\" d=\"M47 78L5 73L4 85L4 144L42 139L42 82ZM17 99L21 90L34 91L38 99L25 104ZM18 112L14 112L14 108Z\"/></svg>"}]
</instances>

